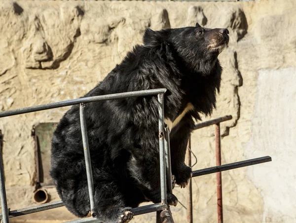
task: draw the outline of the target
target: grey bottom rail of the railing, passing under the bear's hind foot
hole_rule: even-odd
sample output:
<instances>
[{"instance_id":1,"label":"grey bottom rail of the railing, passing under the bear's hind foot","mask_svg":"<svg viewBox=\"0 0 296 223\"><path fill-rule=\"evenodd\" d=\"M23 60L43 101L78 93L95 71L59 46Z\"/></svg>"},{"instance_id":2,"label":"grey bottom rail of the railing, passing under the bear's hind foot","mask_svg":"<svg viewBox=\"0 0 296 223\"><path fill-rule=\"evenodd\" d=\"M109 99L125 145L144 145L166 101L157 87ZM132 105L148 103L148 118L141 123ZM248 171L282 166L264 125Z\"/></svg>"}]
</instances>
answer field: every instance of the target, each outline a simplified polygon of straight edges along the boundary
<instances>
[{"instance_id":1,"label":"grey bottom rail of the railing, passing under the bear's hind foot","mask_svg":"<svg viewBox=\"0 0 296 223\"><path fill-rule=\"evenodd\" d=\"M150 205L146 205L146 206L142 206L142 207L137 207L137 208L133 208L131 210L131 212L134 213L134 216L136 215L142 215L142 214L147 214L150 212L155 212L155 211L160 211L163 210L164 208L167 208L168 206L166 204L150 204ZM94 219L94 218L84 218L84 219L77 219L74 221L70 221L67 223L83 223L83 222L92 222L92 223L101 223L98 219Z\"/></svg>"}]
</instances>

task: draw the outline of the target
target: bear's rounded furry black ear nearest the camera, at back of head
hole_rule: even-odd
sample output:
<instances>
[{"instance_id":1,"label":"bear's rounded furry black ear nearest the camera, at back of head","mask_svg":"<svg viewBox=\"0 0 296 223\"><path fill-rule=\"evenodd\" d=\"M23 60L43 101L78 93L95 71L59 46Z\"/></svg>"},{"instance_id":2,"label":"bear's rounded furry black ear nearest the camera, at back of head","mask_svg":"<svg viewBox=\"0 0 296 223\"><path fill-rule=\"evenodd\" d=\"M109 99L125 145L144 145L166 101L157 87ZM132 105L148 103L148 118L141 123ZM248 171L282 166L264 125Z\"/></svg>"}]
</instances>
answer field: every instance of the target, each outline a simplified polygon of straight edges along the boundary
<instances>
[{"instance_id":1,"label":"bear's rounded furry black ear nearest the camera, at back of head","mask_svg":"<svg viewBox=\"0 0 296 223\"><path fill-rule=\"evenodd\" d=\"M166 30L161 31L153 31L149 28L146 28L145 34L143 37L143 43L145 46L153 47L160 45L162 42L166 41L167 39L167 32Z\"/></svg>"}]
</instances>

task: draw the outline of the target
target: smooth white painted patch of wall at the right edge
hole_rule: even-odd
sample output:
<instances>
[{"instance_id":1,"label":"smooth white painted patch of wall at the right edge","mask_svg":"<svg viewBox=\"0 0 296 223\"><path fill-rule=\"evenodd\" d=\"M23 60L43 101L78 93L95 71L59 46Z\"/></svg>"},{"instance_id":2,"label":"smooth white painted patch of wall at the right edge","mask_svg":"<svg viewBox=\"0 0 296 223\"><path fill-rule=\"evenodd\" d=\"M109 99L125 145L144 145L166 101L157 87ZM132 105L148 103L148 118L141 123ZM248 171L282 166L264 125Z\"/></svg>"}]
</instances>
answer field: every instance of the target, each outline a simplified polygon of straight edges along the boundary
<instances>
[{"instance_id":1,"label":"smooth white painted patch of wall at the right edge","mask_svg":"<svg viewBox=\"0 0 296 223\"><path fill-rule=\"evenodd\" d=\"M295 223L296 68L259 71L252 123L246 158L272 157L248 171L262 194L262 222Z\"/></svg>"}]
</instances>

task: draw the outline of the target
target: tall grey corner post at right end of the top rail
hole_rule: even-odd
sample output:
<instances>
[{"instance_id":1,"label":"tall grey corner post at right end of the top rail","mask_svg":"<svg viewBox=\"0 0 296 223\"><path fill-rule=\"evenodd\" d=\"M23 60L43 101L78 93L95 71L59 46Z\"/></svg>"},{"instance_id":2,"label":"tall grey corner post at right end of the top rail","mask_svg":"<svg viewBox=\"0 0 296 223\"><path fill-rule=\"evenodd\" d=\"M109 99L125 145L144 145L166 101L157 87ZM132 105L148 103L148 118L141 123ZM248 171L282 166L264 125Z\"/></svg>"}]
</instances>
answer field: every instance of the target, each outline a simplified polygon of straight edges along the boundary
<instances>
[{"instance_id":1,"label":"tall grey corner post at right end of the top rail","mask_svg":"<svg viewBox=\"0 0 296 223\"><path fill-rule=\"evenodd\" d=\"M164 150L164 94L158 94L158 137L159 137L159 165L160 165L160 194L161 202L166 203L165 150Z\"/></svg>"}]
</instances>

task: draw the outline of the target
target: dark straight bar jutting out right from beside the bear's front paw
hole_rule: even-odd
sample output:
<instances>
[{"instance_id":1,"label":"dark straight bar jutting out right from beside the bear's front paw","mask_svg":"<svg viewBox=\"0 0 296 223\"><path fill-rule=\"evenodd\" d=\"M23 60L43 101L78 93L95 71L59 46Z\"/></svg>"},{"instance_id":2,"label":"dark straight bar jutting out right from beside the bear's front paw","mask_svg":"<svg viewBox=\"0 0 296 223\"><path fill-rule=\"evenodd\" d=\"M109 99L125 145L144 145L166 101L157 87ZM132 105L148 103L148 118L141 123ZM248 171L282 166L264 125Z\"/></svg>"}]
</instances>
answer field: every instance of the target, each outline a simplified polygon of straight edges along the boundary
<instances>
[{"instance_id":1,"label":"dark straight bar jutting out right from beside the bear's front paw","mask_svg":"<svg viewBox=\"0 0 296 223\"><path fill-rule=\"evenodd\" d=\"M245 166L251 166L259 163L265 163L265 162L270 162L271 157L270 156L263 156L255 159L248 159L244 161L239 161L235 163L228 163L224 164L221 166L214 166L214 167L209 167L201 170L195 170L192 171L192 177L197 177L197 176L202 176L206 174L212 174L212 173L217 173L217 172L222 172L225 170L231 170L231 169L236 169L240 167L245 167Z\"/></svg>"}]
</instances>

